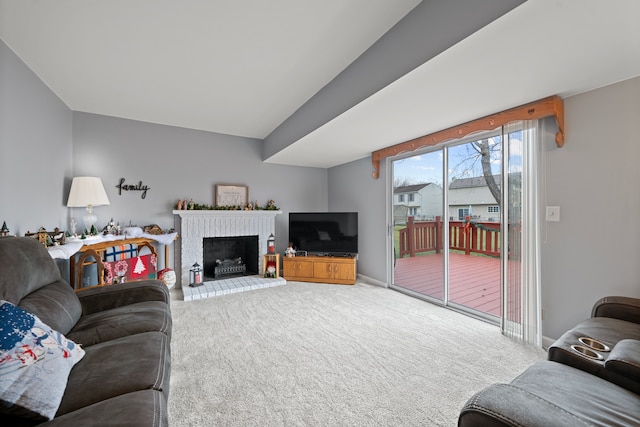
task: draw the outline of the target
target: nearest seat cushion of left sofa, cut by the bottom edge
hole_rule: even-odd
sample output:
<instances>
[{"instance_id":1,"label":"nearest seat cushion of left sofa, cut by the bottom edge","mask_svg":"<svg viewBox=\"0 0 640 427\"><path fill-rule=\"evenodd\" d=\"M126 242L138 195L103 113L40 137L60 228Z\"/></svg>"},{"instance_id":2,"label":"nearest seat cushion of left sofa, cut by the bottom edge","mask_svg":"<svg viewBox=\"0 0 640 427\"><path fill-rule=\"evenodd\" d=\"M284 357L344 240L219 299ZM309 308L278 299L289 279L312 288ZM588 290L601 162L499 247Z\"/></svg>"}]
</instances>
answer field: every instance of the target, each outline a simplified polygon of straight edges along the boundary
<instances>
[{"instance_id":1,"label":"nearest seat cushion of left sofa, cut by the bottom edge","mask_svg":"<svg viewBox=\"0 0 640 427\"><path fill-rule=\"evenodd\" d=\"M157 390L142 390L106 399L69 412L40 427L168 426L167 402Z\"/></svg>"}]
</instances>

